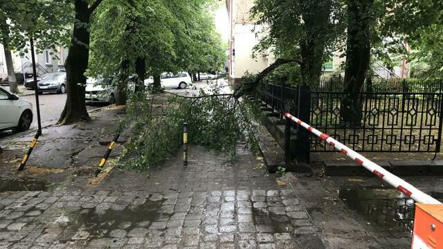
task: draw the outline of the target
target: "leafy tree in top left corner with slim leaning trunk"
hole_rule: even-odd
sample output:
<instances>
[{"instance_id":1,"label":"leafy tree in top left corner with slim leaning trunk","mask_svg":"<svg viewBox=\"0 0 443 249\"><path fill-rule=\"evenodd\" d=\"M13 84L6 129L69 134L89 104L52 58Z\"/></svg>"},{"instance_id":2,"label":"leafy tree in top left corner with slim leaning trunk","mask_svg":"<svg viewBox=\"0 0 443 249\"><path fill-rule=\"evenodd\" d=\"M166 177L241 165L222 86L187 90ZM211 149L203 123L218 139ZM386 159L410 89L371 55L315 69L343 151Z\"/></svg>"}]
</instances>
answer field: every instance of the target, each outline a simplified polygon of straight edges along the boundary
<instances>
[{"instance_id":1,"label":"leafy tree in top left corner with slim leaning trunk","mask_svg":"<svg viewBox=\"0 0 443 249\"><path fill-rule=\"evenodd\" d=\"M11 51L28 53L30 37L37 42L36 53L65 44L70 4L66 0L0 0L0 6L0 42L6 55L10 89L17 92Z\"/></svg>"}]
</instances>

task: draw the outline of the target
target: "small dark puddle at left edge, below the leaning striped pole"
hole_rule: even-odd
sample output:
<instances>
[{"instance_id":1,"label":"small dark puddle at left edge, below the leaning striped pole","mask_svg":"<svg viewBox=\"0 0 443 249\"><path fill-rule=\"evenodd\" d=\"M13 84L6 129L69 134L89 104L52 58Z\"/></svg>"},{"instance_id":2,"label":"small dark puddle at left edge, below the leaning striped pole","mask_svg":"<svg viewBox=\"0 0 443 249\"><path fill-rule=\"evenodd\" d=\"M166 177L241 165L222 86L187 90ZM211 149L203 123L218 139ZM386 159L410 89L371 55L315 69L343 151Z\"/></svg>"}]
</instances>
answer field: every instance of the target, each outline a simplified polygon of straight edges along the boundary
<instances>
[{"instance_id":1,"label":"small dark puddle at left edge, below the leaning striped pole","mask_svg":"<svg viewBox=\"0 0 443 249\"><path fill-rule=\"evenodd\" d=\"M0 177L0 192L7 191L44 191L50 183L38 178L6 178Z\"/></svg>"}]
</instances>

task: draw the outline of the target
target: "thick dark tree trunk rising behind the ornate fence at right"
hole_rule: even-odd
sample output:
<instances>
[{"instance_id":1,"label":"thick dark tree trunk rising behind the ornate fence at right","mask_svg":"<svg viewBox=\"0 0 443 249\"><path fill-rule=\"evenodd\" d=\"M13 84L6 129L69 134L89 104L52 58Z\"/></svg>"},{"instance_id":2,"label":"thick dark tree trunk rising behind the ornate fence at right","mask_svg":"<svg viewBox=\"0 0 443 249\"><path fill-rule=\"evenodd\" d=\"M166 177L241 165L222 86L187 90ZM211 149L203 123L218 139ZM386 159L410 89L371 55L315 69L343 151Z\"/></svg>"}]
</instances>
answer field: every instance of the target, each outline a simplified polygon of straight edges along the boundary
<instances>
[{"instance_id":1,"label":"thick dark tree trunk rising behind the ornate fence at right","mask_svg":"<svg viewBox=\"0 0 443 249\"><path fill-rule=\"evenodd\" d=\"M347 0L345 96L341 118L346 125L361 126L362 86L370 66L370 14L373 0Z\"/></svg>"}]
</instances>

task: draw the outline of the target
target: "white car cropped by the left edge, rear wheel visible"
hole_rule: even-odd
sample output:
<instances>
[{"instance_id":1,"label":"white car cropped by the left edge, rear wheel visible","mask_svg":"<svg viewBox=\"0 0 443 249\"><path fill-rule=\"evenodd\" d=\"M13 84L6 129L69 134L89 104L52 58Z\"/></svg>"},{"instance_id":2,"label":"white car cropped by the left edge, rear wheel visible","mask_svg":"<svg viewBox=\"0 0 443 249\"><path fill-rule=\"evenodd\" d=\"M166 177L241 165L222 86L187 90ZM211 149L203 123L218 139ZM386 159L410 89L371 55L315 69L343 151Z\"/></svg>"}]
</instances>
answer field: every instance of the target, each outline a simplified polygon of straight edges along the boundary
<instances>
[{"instance_id":1,"label":"white car cropped by the left edge, rear wheel visible","mask_svg":"<svg viewBox=\"0 0 443 249\"><path fill-rule=\"evenodd\" d=\"M0 86L0 131L26 131L33 123L33 105Z\"/></svg>"}]
</instances>

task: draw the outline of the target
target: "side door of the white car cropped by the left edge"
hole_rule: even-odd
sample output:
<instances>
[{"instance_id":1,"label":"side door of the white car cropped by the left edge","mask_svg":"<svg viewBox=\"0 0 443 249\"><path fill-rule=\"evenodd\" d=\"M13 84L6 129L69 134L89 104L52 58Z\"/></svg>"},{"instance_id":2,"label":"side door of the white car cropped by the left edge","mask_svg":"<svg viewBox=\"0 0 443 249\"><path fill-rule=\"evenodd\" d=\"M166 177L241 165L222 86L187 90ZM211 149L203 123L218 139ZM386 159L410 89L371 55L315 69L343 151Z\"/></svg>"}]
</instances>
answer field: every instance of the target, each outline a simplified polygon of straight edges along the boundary
<instances>
[{"instance_id":1,"label":"side door of the white car cropped by the left edge","mask_svg":"<svg viewBox=\"0 0 443 249\"><path fill-rule=\"evenodd\" d=\"M0 88L0 129L17 126L20 108L17 101L10 100L9 94Z\"/></svg>"}]
</instances>

